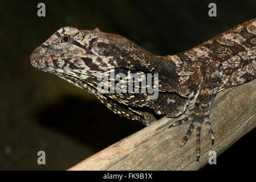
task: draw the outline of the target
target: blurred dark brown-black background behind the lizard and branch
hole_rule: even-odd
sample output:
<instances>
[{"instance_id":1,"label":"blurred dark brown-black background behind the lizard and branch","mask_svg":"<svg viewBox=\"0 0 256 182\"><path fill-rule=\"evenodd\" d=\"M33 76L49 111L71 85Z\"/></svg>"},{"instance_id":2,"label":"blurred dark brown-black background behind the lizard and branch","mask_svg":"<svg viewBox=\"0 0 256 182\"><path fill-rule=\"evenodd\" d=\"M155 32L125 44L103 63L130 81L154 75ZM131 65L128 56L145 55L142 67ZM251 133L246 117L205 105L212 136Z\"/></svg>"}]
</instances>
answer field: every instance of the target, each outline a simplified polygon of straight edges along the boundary
<instances>
[{"instance_id":1,"label":"blurred dark brown-black background behind the lizard and branch","mask_svg":"<svg viewBox=\"0 0 256 182\"><path fill-rule=\"evenodd\" d=\"M37 16L44 2L46 17ZM217 17L208 16L210 2ZM256 1L1 1L0 169L67 169L142 129L95 96L40 72L30 53L60 27L123 35L158 55L197 46L256 18ZM182 139L181 134L181 139ZM255 130L202 170L247 169L255 163ZM39 166L37 152L46 152Z\"/></svg>"}]
</instances>

